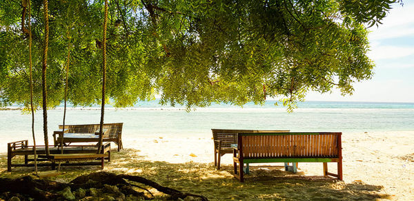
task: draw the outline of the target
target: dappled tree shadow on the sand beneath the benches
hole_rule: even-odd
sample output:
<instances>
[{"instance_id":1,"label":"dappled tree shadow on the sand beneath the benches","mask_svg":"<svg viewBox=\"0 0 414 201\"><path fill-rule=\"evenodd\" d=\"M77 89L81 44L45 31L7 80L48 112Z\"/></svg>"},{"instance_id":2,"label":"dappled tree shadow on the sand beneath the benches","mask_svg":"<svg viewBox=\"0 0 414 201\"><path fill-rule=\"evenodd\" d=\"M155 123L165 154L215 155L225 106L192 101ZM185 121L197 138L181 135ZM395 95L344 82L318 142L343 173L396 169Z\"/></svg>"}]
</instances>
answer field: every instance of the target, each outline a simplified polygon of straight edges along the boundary
<instances>
[{"instance_id":1,"label":"dappled tree shadow on the sand beneath the benches","mask_svg":"<svg viewBox=\"0 0 414 201\"><path fill-rule=\"evenodd\" d=\"M196 162L169 163L144 160L139 150L126 149L112 152L112 161L104 171L143 176L166 187L197 193L209 200L375 200L387 199L381 186L353 182L351 184L322 176L304 176L303 173L290 173L283 167L251 167L251 173L244 183L233 178L233 167L224 166L216 170L213 164ZM0 156L0 176L26 176L34 171L32 167L14 168L6 171L6 156ZM19 159L22 160L22 159ZM48 171L50 167L40 167ZM68 182L85 173L100 171L97 166L62 167L59 176L48 178ZM158 197L157 193L151 189Z\"/></svg>"}]
</instances>

